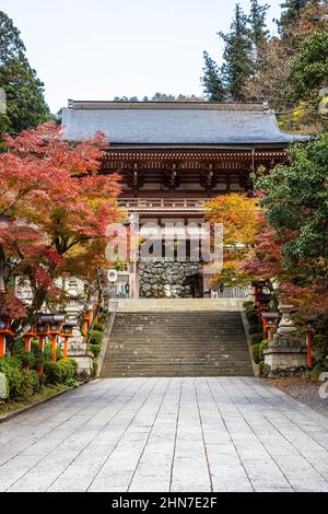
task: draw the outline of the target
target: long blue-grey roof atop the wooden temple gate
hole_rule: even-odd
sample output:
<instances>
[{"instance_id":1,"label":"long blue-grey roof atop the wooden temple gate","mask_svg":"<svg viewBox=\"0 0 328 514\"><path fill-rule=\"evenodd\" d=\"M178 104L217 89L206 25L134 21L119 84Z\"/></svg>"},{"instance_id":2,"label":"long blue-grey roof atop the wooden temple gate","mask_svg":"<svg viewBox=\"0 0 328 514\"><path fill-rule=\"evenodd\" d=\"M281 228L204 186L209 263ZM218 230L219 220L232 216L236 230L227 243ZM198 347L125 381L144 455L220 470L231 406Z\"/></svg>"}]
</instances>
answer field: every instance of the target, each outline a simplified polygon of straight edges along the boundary
<instances>
[{"instance_id":1,"label":"long blue-grey roof atop the wooden temple gate","mask_svg":"<svg viewBox=\"0 0 328 514\"><path fill-rule=\"evenodd\" d=\"M69 101L62 125L67 140L102 131L113 144L281 144L303 139L281 132L274 113L259 104Z\"/></svg>"}]
</instances>

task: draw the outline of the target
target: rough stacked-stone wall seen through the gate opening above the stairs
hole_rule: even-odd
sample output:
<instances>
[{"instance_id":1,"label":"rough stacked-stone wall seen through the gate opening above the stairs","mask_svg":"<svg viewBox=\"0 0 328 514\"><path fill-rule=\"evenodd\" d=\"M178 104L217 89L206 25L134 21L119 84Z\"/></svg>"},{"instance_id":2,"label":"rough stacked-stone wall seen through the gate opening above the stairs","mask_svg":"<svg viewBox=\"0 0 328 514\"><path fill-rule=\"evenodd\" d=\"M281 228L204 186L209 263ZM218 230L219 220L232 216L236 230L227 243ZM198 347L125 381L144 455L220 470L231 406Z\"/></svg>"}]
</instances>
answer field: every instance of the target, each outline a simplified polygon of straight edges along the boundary
<instances>
[{"instance_id":1,"label":"rough stacked-stone wall seen through the gate opening above the stairs","mask_svg":"<svg viewBox=\"0 0 328 514\"><path fill-rule=\"evenodd\" d=\"M141 261L139 264L140 297L191 297L190 287L184 285L186 277L201 271L200 262L177 262L165 260Z\"/></svg>"}]
</instances>

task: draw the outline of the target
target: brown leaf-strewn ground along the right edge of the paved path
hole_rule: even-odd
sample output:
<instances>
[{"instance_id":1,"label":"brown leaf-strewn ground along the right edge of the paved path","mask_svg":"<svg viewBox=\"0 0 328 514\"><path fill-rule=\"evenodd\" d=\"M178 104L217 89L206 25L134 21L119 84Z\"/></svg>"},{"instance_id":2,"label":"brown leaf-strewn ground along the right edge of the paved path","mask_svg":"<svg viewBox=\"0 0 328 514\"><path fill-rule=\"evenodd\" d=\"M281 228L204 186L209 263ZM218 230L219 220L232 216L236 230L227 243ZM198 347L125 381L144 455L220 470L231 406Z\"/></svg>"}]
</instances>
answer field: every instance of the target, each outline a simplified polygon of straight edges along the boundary
<instances>
[{"instance_id":1,"label":"brown leaf-strewn ground along the right edge of the paved path","mask_svg":"<svg viewBox=\"0 0 328 514\"><path fill-rule=\"evenodd\" d=\"M328 418L328 398L320 398L319 388L323 383L311 382L305 378L298 377L281 377L281 378L269 378L268 382L283 390L288 395L292 396L302 404L307 405L316 412ZM326 396L328 396L328 384L325 387Z\"/></svg>"}]
</instances>

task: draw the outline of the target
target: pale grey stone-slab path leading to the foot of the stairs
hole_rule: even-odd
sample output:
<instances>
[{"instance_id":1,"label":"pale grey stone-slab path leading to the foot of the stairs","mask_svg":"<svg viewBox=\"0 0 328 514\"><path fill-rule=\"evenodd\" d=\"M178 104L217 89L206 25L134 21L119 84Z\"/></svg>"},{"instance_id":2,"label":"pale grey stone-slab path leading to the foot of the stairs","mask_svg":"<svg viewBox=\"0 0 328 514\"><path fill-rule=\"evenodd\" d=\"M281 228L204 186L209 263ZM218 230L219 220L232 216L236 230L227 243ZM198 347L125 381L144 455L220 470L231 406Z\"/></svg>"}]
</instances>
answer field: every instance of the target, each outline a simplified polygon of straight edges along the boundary
<instances>
[{"instance_id":1,"label":"pale grey stone-slab path leading to the foot of the stairs","mask_svg":"<svg viewBox=\"0 0 328 514\"><path fill-rule=\"evenodd\" d=\"M257 378L94 382L0 424L1 491L328 491L328 419Z\"/></svg>"}]
</instances>

